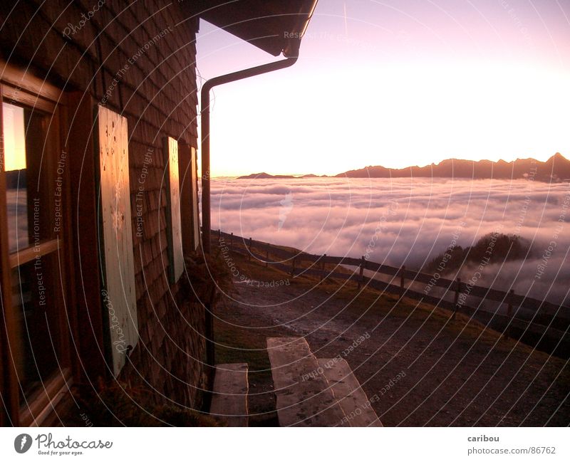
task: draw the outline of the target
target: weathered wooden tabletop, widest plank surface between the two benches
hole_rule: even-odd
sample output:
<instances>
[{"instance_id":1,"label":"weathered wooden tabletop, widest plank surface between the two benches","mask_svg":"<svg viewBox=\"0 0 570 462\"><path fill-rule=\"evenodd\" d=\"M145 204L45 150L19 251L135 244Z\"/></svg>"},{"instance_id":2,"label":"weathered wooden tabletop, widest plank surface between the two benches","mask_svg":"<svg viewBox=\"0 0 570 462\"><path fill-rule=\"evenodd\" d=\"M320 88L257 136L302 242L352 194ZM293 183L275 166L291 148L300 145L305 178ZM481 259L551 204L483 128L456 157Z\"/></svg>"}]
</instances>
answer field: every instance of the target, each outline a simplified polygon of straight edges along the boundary
<instances>
[{"instance_id":1,"label":"weathered wooden tabletop, widest plank surface between the two benches","mask_svg":"<svg viewBox=\"0 0 570 462\"><path fill-rule=\"evenodd\" d=\"M280 426L350 426L302 337L267 339Z\"/></svg>"}]
</instances>

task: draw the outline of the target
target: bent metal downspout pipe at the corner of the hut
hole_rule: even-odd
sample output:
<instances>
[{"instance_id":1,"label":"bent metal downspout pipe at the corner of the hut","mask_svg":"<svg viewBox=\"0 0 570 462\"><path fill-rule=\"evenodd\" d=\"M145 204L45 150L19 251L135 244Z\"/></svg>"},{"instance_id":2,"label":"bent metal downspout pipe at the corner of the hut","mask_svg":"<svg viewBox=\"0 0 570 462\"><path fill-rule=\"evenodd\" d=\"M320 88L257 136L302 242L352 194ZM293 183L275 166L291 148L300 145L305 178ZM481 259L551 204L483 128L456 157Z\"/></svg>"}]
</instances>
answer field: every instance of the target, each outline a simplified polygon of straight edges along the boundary
<instances>
[{"instance_id":1,"label":"bent metal downspout pipe at the corner of the hut","mask_svg":"<svg viewBox=\"0 0 570 462\"><path fill-rule=\"evenodd\" d=\"M298 53L296 53L298 54ZM202 249L204 253L210 253L210 232L212 229L210 214L210 167L209 167L209 92L217 85L235 82L254 75L265 74L274 70L289 68L296 63L298 56L291 56L281 61L257 65L254 68L238 70L225 75L207 80L202 85L200 112L202 122Z\"/></svg>"}]
</instances>

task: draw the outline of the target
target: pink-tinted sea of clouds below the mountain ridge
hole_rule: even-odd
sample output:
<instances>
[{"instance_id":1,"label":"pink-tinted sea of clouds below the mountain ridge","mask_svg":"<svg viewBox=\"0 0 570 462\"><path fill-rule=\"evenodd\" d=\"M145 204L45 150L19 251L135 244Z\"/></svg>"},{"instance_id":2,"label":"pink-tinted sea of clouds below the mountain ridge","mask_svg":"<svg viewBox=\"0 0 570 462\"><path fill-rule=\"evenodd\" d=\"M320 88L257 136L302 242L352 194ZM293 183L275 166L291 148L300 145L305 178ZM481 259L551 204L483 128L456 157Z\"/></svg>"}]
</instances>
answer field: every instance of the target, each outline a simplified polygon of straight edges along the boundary
<instances>
[{"instance_id":1,"label":"pink-tinted sea of clouds below the mountain ridge","mask_svg":"<svg viewBox=\"0 0 570 462\"><path fill-rule=\"evenodd\" d=\"M565 305L568 221L570 185L532 178L212 181L212 229L309 253L420 269L452 243L465 247L487 233L517 234L532 243L527 258L485 266L477 285ZM473 271L463 268L462 280Z\"/></svg>"}]
</instances>

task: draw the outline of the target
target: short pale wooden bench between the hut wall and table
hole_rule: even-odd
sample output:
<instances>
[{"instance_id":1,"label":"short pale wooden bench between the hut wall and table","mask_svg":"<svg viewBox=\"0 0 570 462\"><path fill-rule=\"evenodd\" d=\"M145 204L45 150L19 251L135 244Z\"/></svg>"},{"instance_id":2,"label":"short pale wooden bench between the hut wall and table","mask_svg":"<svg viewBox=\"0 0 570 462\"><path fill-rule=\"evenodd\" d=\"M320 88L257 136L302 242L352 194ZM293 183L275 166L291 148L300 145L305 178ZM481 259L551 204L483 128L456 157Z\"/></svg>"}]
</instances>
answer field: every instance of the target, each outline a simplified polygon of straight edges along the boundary
<instances>
[{"instance_id":1,"label":"short pale wooden bench between the hut wall and table","mask_svg":"<svg viewBox=\"0 0 570 462\"><path fill-rule=\"evenodd\" d=\"M217 364L209 413L227 426L248 426L247 363Z\"/></svg>"}]
</instances>

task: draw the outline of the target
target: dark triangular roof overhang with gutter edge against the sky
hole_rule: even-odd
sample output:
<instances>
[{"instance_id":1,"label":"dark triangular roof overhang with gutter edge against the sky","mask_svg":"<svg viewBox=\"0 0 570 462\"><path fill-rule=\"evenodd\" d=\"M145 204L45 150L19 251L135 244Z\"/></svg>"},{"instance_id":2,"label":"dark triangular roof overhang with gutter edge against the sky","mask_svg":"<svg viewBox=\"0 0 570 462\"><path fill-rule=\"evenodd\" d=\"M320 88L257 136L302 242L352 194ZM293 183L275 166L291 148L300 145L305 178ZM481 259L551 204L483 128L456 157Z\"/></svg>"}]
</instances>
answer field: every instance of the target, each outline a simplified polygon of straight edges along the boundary
<instances>
[{"instance_id":1,"label":"dark triangular roof overhang with gutter edge against the sky","mask_svg":"<svg viewBox=\"0 0 570 462\"><path fill-rule=\"evenodd\" d=\"M261 50L298 56L317 0L197 0L180 4Z\"/></svg>"}]
</instances>

